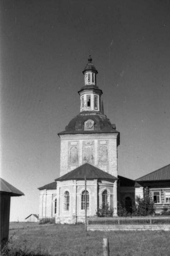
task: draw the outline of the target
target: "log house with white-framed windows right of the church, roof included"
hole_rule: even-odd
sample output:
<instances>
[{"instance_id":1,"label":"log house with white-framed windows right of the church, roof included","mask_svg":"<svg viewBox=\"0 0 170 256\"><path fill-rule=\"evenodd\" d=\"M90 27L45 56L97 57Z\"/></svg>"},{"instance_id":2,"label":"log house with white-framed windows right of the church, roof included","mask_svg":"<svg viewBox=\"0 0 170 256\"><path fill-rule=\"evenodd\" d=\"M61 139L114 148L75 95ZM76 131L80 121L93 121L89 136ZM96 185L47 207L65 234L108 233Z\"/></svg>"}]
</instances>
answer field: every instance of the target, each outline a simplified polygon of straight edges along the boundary
<instances>
[{"instance_id":1,"label":"log house with white-framed windows right of the church, roof included","mask_svg":"<svg viewBox=\"0 0 170 256\"><path fill-rule=\"evenodd\" d=\"M165 208L170 211L170 165L142 176L136 179L136 182L144 190L149 189L149 194L154 200L156 213L161 213Z\"/></svg>"}]
</instances>

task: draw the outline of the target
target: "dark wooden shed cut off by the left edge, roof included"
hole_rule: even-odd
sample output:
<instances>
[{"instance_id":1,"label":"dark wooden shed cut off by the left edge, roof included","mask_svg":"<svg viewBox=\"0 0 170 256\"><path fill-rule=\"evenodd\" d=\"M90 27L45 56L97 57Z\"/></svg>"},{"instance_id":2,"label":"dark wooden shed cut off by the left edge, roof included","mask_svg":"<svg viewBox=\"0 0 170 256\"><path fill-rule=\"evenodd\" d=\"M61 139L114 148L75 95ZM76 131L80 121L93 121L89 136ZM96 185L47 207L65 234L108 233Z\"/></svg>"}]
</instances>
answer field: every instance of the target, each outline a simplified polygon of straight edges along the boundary
<instances>
[{"instance_id":1,"label":"dark wooden shed cut off by the left edge, roof included","mask_svg":"<svg viewBox=\"0 0 170 256\"><path fill-rule=\"evenodd\" d=\"M24 196L24 194L10 183L0 178L0 250L2 250L3 246L8 241L11 196Z\"/></svg>"}]
</instances>

